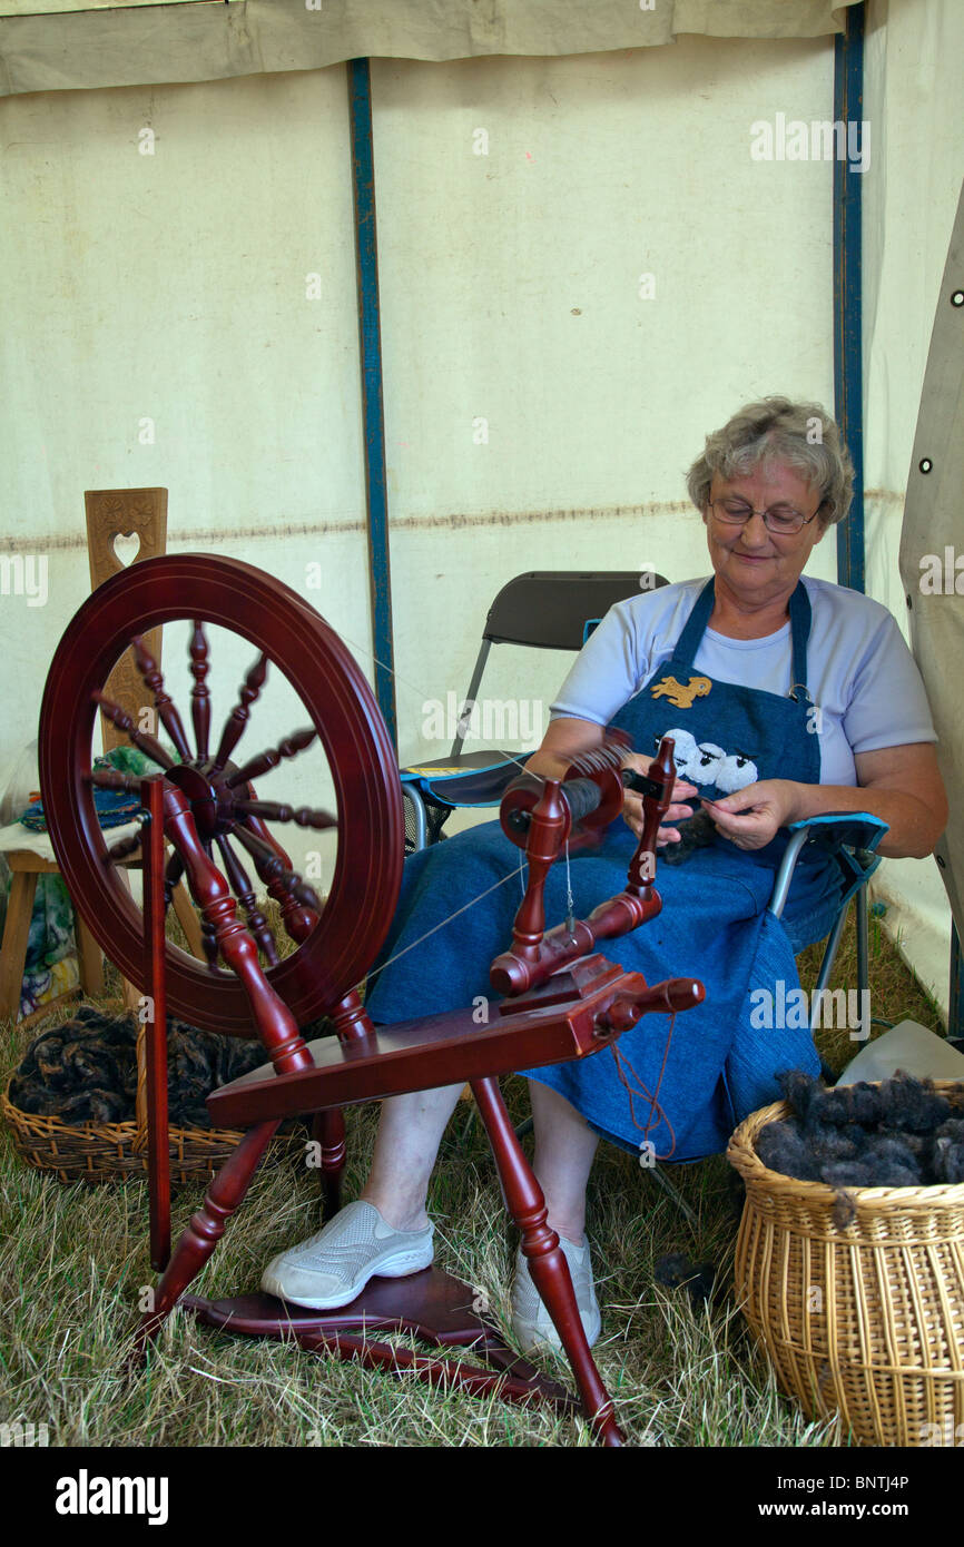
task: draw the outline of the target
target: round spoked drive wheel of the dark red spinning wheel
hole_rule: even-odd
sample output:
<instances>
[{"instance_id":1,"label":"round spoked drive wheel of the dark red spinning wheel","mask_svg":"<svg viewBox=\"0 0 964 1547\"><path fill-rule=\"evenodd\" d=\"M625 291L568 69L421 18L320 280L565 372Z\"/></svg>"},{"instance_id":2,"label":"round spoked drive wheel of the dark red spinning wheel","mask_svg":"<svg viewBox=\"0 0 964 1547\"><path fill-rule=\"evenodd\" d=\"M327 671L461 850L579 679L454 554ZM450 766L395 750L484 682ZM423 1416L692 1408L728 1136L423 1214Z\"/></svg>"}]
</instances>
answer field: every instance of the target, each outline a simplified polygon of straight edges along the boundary
<instances>
[{"instance_id":1,"label":"round spoked drive wheel of the dark red spinning wheel","mask_svg":"<svg viewBox=\"0 0 964 1547\"><path fill-rule=\"evenodd\" d=\"M186 622L192 687L181 713L141 636ZM248 640L255 651L223 729L212 715L209 630ZM170 636L169 636L170 637ZM132 647L172 749L104 701L111 667ZM167 647L166 664L170 664ZM258 698L280 673L303 707L303 721L274 746L255 741ZM111 843L96 815L94 787L138 792L141 781L91 772L97 710L122 729L158 774L187 800L204 852L240 902L240 917L262 953L271 989L303 1026L331 1010L365 976L388 930L404 859L402 797L396 760L367 679L333 630L297 593L237 558L184 554L147 560L102 585L70 623L46 679L40 712L40 786L57 860L71 897L105 954L125 978L144 981L144 919L118 863L139 838ZM220 712L220 707L218 707ZM337 815L258 801L252 781L309 744L323 747ZM322 902L291 868L265 825L337 828L337 859ZM167 894L184 871L167 862ZM254 871L257 879L249 873ZM258 886L260 883L260 886ZM277 942L255 902L266 888L280 903L297 948L279 959ZM167 944L167 1004L210 1032L252 1036L249 998L238 978Z\"/></svg>"}]
</instances>

